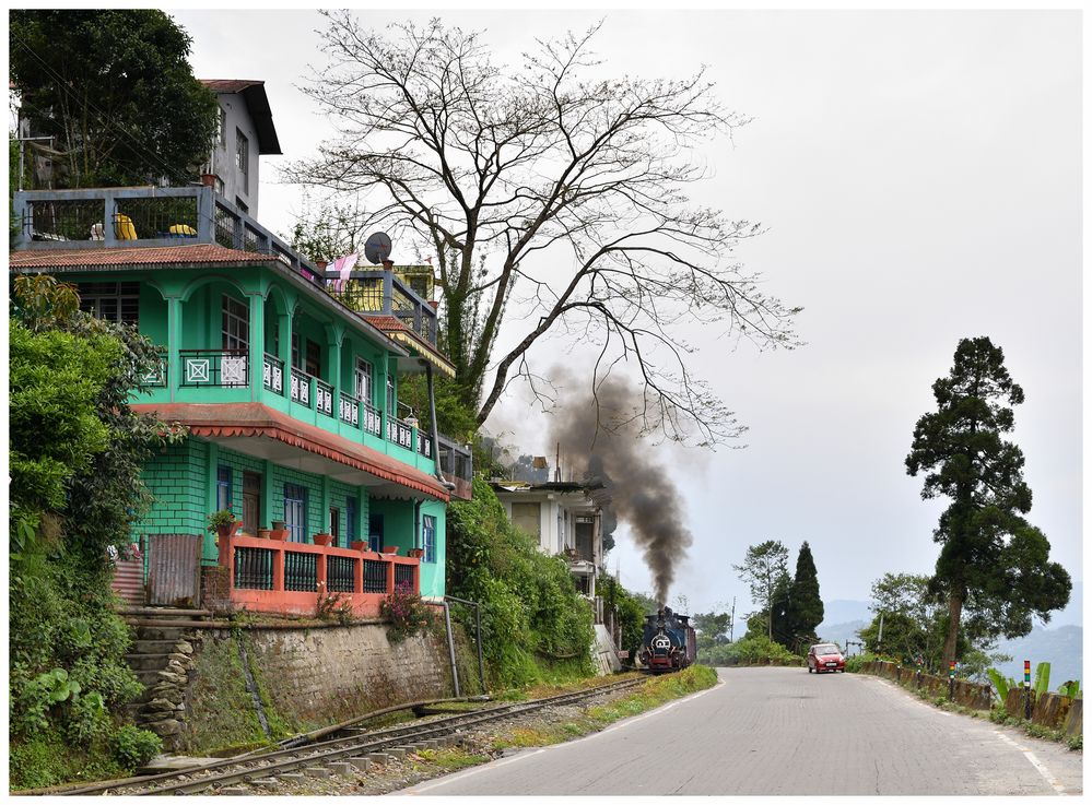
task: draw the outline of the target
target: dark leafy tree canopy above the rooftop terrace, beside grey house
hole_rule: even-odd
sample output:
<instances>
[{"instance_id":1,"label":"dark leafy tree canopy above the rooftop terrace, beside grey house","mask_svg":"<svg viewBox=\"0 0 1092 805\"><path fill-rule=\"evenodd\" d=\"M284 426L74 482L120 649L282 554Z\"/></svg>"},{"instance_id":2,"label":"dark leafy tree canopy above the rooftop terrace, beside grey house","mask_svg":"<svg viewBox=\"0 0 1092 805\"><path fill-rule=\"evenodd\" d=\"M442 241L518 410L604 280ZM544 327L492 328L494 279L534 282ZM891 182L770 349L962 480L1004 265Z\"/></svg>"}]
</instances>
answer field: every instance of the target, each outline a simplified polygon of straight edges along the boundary
<instances>
[{"instance_id":1,"label":"dark leafy tree canopy above the rooftop terrace, beside grey house","mask_svg":"<svg viewBox=\"0 0 1092 805\"><path fill-rule=\"evenodd\" d=\"M190 69L190 38L152 9L12 11L11 80L35 135L54 137L57 187L196 178L215 95Z\"/></svg>"}]
</instances>

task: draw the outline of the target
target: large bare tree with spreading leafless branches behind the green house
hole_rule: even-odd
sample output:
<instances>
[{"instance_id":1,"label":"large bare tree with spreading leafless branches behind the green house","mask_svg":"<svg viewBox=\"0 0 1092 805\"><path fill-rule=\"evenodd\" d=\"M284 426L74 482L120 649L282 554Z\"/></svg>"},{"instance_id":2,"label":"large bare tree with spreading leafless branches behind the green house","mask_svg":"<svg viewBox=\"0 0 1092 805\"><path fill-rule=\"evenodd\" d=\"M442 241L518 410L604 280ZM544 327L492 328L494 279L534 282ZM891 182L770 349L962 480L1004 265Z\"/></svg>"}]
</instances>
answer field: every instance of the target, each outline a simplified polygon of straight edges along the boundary
<instances>
[{"instance_id":1,"label":"large bare tree with spreading leafless branches behind the green house","mask_svg":"<svg viewBox=\"0 0 1092 805\"><path fill-rule=\"evenodd\" d=\"M502 69L478 33L438 20L388 37L349 12L326 16L332 63L305 92L341 135L287 178L364 193L366 225L435 249L446 347L479 424L512 379L535 380L531 346L565 331L599 350L594 384L635 362L646 430L703 443L736 436L674 328L718 322L733 339L790 347L797 310L729 259L759 227L684 192L707 173L693 146L747 122L714 98L704 71L604 78L589 52L599 25L538 40ZM494 354L502 324L524 331Z\"/></svg>"}]
</instances>

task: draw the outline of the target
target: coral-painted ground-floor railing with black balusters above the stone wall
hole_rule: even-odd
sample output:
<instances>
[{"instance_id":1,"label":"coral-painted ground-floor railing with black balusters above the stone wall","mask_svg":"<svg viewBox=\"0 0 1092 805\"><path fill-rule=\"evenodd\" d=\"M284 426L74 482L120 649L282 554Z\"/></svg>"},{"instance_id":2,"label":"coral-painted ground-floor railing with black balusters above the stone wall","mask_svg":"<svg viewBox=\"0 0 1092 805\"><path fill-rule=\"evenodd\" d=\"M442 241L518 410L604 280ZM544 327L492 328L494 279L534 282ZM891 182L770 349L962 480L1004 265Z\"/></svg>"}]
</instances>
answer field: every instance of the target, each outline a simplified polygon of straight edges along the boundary
<instances>
[{"instance_id":1,"label":"coral-painted ground-floor railing with black balusters above the stone wall","mask_svg":"<svg viewBox=\"0 0 1092 805\"><path fill-rule=\"evenodd\" d=\"M420 592L420 559L255 536L220 538L220 566L233 608L316 615L340 596L356 617L375 617L395 588Z\"/></svg>"}]
</instances>

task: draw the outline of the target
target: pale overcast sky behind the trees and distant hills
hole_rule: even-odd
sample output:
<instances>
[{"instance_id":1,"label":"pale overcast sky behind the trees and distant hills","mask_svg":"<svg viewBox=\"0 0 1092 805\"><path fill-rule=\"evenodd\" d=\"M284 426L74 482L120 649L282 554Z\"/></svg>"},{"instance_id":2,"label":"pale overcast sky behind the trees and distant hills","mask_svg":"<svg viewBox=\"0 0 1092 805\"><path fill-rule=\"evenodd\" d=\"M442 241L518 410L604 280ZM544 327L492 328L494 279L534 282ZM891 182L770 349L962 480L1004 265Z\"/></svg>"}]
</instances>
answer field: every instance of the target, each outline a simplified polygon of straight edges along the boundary
<instances>
[{"instance_id":1,"label":"pale overcast sky behind the trees and distant hills","mask_svg":"<svg viewBox=\"0 0 1092 805\"><path fill-rule=\"evenodd\" d=\"M283 157L263 157L259 217L285 232L300 189L277 165L330 137L298 91L325 62L316 12L172 12L200 78L266 82ZM434 13L357 12L383 27ZM749 427L743 450L700 460L664 450L694 546L672 594L691 609L739 596L730 565L782 540L812 547L826 600L868 597L886 571L929 572L943 502L920 499L904 459L934 409L958 341L988 335L1025 392L1014 440L1034 493L1030 520L1054 559L1081 571L1081 20L1078 12L441 12L484 29L501 58L531 36L606 17L606 69L683 76L702 64L753 118L702 156L694 198L766 233L738 257L764 289L805 307L807 345L736 351L686 335L694 367ZM245 33L246 35L240 35ZM397 245L396 245L397 247ZM397 249L396 249L397 250ZM396 254L397 257L397 254ZM510 330L502 336L514 339ZM533 358L549 367L548 345ZM572 360L586 360L579 348ZM528 452L544 430L513 398L489 423ZM623 524L610 558L649 590Z\"/></svg>"}]
</instances>

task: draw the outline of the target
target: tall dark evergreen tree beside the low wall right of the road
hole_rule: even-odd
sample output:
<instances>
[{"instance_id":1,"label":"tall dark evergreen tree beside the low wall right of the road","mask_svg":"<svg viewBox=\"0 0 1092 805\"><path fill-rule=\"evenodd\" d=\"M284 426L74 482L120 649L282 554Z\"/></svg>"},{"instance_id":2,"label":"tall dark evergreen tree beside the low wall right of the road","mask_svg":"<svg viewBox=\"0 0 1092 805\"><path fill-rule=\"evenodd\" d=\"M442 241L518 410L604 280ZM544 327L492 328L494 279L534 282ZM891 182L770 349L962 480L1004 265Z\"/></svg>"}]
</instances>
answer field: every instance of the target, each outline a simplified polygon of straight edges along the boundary
<instances>
[{"instance_id":1,"label":"tall dark evergreen tree beside the low wall right of the road","mask_svg":"<svg viewBox=\"0 0 1092 805\"><path fill-rule=\"evenodd\" d=\"M930 590L948 600L943 661L955 659L964 605L981 634L1018 637L1069 601L1069 573L1048 561L1050 544L1024 520L1032 494L1012 430L1012 405L1023 390L988 338L963 339L948 377L932 386L937 411L914 428L906 470L925 473L921 497L944 496L934 538L941 546Z\"/></svg>"}]
</instances>

